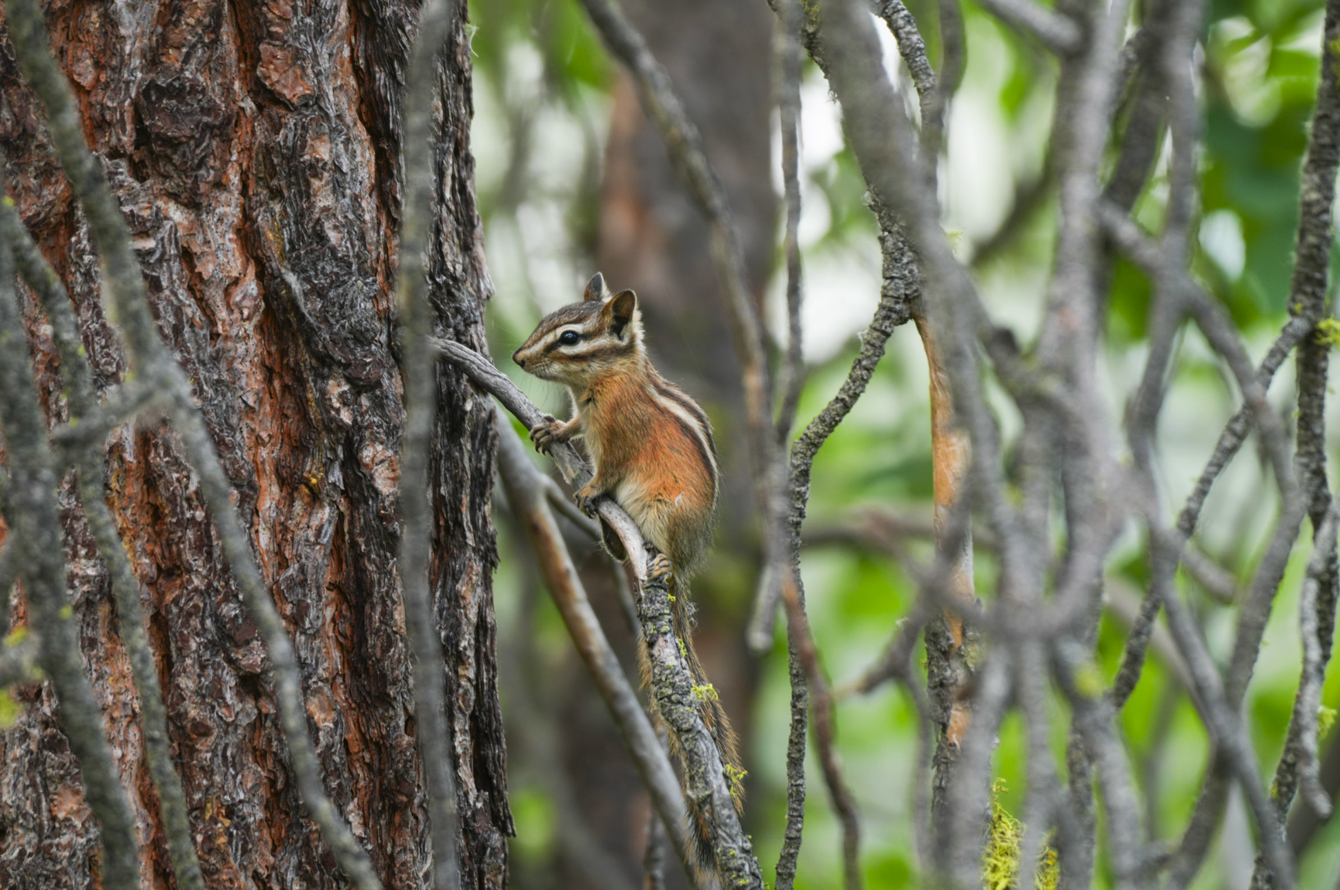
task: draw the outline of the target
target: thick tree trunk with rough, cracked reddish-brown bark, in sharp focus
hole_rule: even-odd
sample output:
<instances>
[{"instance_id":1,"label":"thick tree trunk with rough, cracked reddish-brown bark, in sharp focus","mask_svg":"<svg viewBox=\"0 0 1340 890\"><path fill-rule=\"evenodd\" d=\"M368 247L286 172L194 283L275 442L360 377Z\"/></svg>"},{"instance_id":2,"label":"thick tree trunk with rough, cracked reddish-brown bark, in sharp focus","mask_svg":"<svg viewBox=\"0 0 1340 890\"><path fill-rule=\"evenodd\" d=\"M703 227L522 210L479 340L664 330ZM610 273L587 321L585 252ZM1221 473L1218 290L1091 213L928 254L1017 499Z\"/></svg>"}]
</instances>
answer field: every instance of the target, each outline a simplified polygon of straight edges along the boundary
<instances>
[{"instance_id":1,"label":"thick tree trunk with rough, cracked reddish-brown bark, in sharp focus","mask_svg":"<svg viewBox=\"0 0 1340 890\"><path fill-rule=\"evenodd\" d=\"M46 9L80 125L119 200L158 334L237 493L265 587L293 641L324 785L389 886L427 866L395 550L403 383L393 348L403 67L417 4L318 1ZM126 371L98 299L90 227L71 200L5 35L0 147L17 209L75 304L99 391ZM437 331L482 347L489 292L468 146L469 54L452 25L427 256ZM296 287L292 284L296 283ZM67 417L44 314L20 311L47 422ZM507 873L488 515L485 399L438 373L430 584L446 657L462 882ZM168 729L208 886L343 886L302 816L268 655L247 617L181 440L141 424L110 441L109 507L139 579ZM75 630L141 843L139 886L170 886L130 662L106 570L60 489ZM20 605L16 618L23 619ZM5 886L95 886L106 874L47 686L19 690L0 733Z\"/></svg>"}]
</instances>

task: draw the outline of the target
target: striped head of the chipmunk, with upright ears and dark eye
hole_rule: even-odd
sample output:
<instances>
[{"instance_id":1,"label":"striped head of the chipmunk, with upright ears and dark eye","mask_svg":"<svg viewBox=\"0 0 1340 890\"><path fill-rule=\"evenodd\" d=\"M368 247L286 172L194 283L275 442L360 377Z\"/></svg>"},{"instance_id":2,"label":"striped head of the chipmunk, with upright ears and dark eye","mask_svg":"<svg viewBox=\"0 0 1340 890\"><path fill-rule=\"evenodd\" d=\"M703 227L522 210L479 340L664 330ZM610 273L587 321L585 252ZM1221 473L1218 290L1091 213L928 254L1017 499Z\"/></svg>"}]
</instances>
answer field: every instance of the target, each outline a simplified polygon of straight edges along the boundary
<instances>
[{"instance_id":1,"label":"striped head of the chipmunk, with upright ears and dark eye","mask_svg":"<svg viewBox=\"0 0 1340 890\"><path fill-rule=\"evenodd\" d=\"M545 315L512 361L540 379L583 386L642 357L642 315L632 291L611 294L596 272L580 303Z\"/></svg>"}]
</instances>

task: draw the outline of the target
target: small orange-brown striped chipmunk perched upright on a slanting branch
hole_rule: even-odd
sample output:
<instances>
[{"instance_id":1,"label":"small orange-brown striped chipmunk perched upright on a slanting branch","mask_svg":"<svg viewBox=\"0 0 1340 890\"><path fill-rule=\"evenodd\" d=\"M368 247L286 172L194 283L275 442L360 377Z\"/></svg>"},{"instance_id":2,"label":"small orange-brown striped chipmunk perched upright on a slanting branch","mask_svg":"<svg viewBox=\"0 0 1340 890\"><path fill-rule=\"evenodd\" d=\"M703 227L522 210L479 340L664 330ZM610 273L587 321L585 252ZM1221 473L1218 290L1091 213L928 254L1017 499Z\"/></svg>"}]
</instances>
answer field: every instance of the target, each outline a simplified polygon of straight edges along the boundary
<instances>
[{"instance_id":1,"label":"small orange-brown striped chipmunk perched upright on a slanting branch","mask_svg":"<svg viewBox=\"0 0 1340 890\"><path fill-rule=\"evenodd\" d=\"M572 420L545 416L545 422L531 430L531 438L541 452L576 436L584 440L595 461L595 476L574 493L578 505L592 513L592 500L608 495L661 551L649 564L647 575L667 578L674 630L683 642L694 686L709 686L690 641L693 610L687 583L712 543L720 489L717 446L708 416L657 373L642 339L636 295L611 294L604 276L596 272L582 302L541 319L512 361L540 379L567 385ZM610 552L619 560L627 559L622 543L604 523L602 531ZM641 639L638 661L647 685L650 665ZM738 811L744 772L736 733L716 696L704 697L701 705ZM694 800L687 803L690 810L698 806ZM690 834L697 835L699 862L712 870L706 826L701 816L695 823L697 831Z\"/></svg>"}]
</instances>

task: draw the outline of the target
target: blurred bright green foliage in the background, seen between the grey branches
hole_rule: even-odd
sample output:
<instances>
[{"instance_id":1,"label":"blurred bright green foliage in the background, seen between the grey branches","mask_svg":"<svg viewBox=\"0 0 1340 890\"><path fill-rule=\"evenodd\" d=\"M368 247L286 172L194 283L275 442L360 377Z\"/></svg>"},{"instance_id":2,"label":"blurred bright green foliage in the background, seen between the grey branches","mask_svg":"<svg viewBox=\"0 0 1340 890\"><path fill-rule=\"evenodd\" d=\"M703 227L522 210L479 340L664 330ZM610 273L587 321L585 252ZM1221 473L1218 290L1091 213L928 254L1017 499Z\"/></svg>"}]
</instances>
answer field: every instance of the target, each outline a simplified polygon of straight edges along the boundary
<instances>
[{"instance_id":1,"label":"blurred bright green foliage in the background, seen between the grey branches","mask_svg":"<svg viewBox=\"0 0 1340 890\"><path fill-rule=\"evenodd\" d=\"M1139 5L1139 4L1136 4ZM933 60L939 58L935 4L909 3ZM949 149L942 164L947 210L945 227L965 232L962 251L1005 220L1016 185L1045 168L1052 95L1057 66L1036 46L1014 36L972 3L963 5L967 35L966 70L950 118ZM615 76L610 59L591 32L580 7L556 0L493 0L472 4L477 121L474 147L485 243L497 295L490 308L493 354L508 355L539 318L575 294L590 271L592 213L599 160L608 129ZM1193 271L1221 299L1260 357L1285 318L1297 221L1298 170L1317 86L1321 40L1319 0L1214 0L1195 62L1201 71L1203 109L1201 213L1194 239ZM906 88L906 74L902 79ZM863 300L878 291L875 227L863 204L863 185L851 151L835 142L836 114L825 103L817 71L805 86L805 224L803 244L809 299ZM827 118L824 117L827 115ZM824 130L824 127L828 127ZM989 137L989 138L988 138ZM525 151L516 150L524 142ZM832 143L831 150L821 146ZM820 147L815 147L820 146ZM1114 149L1115 157L1115 149ZM1000 188L982 190L973 176L982 170ZM966 194L965 194L966 192ZM1001 197L992 198L994 192ZM1138 218L1158 232L1167 193L1166 151L1136 206ZM1041 315L1052 263L1055 194L1009 232L1002 251L974 267L989 308L1028 343ZM805 228L808 227L808 229ZM780 265L780 264L779 264ZM843 287L827 287L842 267ZM852 272L852 269L856 269ZM867 291L851 294L851 275L866 275ZM779 271L780 276L780 271ZM860 290L860 288L855 288ZM773 287L773 296L779 288ZM1150 283L1118 261L1107 315L1107 347L1100 359L1106 409L1120 422L1146 353ZM868 310L864 310L868 312ZM860 318L860 314L851 315ZM817 413L836 391L855 353L859 322L827 332L842 343L812 358L799 422ZM817 334L816 334L817 336ZM552 386L513 374L541 406L565 411L564 395ZM1194 332L1178 343L1175 371L1160 425L1159 461L1167 509L1177 509L1207 458L1223 422L1234 410L1227 374ZM809 527L852 516L875 505L906 516L930 513L929 405L925 359L910 328L890 342L887 358L851 417L832 436L815 464ZM1292 371L1281 371L1272 399L1290 409ZM1333 401L1333 399L1332 399ZM1016 411L997 393L996 407L1006 441L1017 432ZM1332 428L1335 417L1331 418ZM1120 432L1114 429L1114 437ZM1332 464L1333 465L1333 464ZM1264 485L1262 464L1253 446L1244 449L1211 493L1201 546L1231 570L1241 583L1250 578L1264 546L1262 531L1278 509ZM516 598L527 583L515 560L528 555L524 542L501 533L503 572L497 582L498 621L504 637L517 621ZM925 551L917 551L925 555ZM1266 645L1249 692L1246 713L1252 736L1269 775L1274 769L1298 680L1297 588L1308 547L1300 544L1285 578L1266 633ZM744 613L752 570L737 555L718 555L730 580L733 603ZM993 594L993 562L978 551L978 592ZM1144 542L1122 539L1110 563L1110 599L1143 595ZM805 584L816 639L825 670L842 686L880 654L915 590L902 568L859 547L808 550ZM720 586L718 578L718 586ZM1186 594L1201 613L1217 658L1227 658L1237 610L1210 599L1186 578ZM547 600L536 606L533 643L544 663L571 663L567 638ZM1104 682L1116 673L1126 623L1120 610L1106 614L1096 653ZM741 642L742 645L742 642ZM750 714L752 783L749 828L770 877L784 823L784 751L788 686L784 643L761 665L761 682ZM1336 672L1329 672L1324 701L1340 706ZM911 827L915 759L915 712L891 686L839 705L839 741L847 775L862 810L863 866L867 886L906 887L917 882ZM745 722L742 716L737 716ZM1068 713L1053 702L1052 735L1064 763ZM1175 843L1199 791L1207 737L1177 673L1160 650L1122 714L1132 773L1148 802L1151 838ZM1017 717L1006 720L996 749L996 772L1004 780L998 806L1016 816L1026 792L1026 744ZM517 771L513 810L521 835L513 854L524 862L551 855L553 812L540 785ZM797 886L840 886L838 823L813 760L808 765L805 840ZM1221 838L1197 887L1242 886L1253 844L1248 822L1234 803ZM1332 886L1340 870L1340 828L1321 831L1302 858L1302 886ZM1096 886L1108 886L1100 867ZM1248 873L1242 870L1246 869ZM525 870L523 869L521 873ZM519 874L521 874L519 873Z\"/></svg>"}]
</instances>

